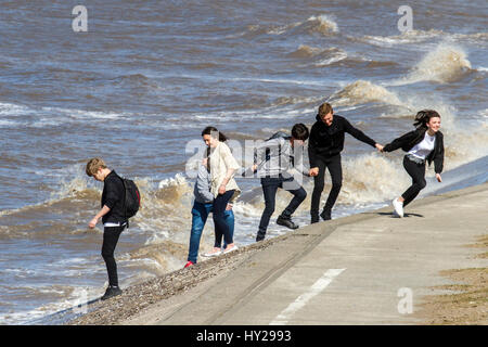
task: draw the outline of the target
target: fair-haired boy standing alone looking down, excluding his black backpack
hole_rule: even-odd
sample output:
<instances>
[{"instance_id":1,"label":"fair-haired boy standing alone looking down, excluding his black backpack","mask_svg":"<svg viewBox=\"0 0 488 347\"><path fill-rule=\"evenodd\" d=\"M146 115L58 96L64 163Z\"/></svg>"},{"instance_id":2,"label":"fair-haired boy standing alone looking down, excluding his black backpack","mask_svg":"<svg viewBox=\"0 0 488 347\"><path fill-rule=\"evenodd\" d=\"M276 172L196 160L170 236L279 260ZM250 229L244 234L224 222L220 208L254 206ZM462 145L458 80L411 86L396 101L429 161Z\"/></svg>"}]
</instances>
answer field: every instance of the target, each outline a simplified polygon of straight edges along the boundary
<instances>
[{"instance_id":1,"label":"fair-haired boy standing alone looking down, excluding his black backpack","mask_svg":"<svg viewBox=\"0 0 488 347\"><path fill-rule=\"evenodd\" d=\"M101 158L90 159L86 172L97 181L103 182L102 209L93 217L88 227L93 229L100 219L104 226L102 257L108 273L108 287L102 296L102 300L105 300L121 294L114 252L120 233L127 226L127 218L124 216L125 188L121 178L115 170L108 169Z\"/></svg>"}]
</instances>

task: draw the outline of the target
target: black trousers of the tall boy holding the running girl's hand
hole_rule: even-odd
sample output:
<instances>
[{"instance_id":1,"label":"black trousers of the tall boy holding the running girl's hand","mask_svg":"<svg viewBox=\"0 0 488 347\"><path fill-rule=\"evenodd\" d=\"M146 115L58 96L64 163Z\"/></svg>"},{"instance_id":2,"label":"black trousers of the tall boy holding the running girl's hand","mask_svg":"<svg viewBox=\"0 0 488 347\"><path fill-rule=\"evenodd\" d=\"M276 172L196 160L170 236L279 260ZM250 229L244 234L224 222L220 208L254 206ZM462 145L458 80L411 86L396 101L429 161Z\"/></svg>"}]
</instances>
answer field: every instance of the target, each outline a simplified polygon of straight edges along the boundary
<instances>
[{"instance_id":1,"label":"black trousers of the tall boy holding the running girl's hand","mask_svg":"<svg viewBox=\"0 0 488 347\"><path fill-rule=\"evenodd\" d=\"M332 188L329 192L329 197L323 207L324 210L331 211L337 200L341 188L343 187L343 167L341 165L341 154L334 155L330 158L318 158L316 167L319 168L319 175L313 177L313 192L310 206L310 215L312 217L319 216L320 196L322 195L325 185L325 168L329 169L332 179Z\"/></svg>"}]
</instances>

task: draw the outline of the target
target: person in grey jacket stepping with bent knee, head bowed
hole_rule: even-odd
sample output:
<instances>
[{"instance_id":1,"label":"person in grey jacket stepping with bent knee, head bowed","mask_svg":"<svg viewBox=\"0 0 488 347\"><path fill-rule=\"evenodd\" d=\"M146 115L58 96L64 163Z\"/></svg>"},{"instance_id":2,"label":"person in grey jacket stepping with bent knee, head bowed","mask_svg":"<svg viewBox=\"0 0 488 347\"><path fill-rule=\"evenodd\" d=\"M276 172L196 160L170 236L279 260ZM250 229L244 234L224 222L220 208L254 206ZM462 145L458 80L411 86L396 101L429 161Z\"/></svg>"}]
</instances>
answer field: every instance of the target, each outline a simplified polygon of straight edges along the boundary
<instances>
[{"instance_id":1,"label":"person in grey jacket stepping with bent knee, head bowed","mask_svg":"<svg viewBox=\"0 0 488 347\"><path fill-rule=\"evenodd\" d=\"M277 219L277 224L290 229L297 229L298 226L292 221L293 213L307 197L307 192L301 184L290 172L294 167L299 167L299 174L304 176L314 176L316 171L305 170L301 165L299 150L303 149L308 139L309 131L304 124L296 124L292 128L292 136L277 132L256 149L255 159L260 162L253 166L253 170L258 172L261 179L262 193L265 195L265 210L259 221L259 230L256 242L266 236L269 220L274 213L278 189L284 189L292 193L294 197L288 206ZM298 163L299 162L299 163Z\"/></svg>"}]
</instances>

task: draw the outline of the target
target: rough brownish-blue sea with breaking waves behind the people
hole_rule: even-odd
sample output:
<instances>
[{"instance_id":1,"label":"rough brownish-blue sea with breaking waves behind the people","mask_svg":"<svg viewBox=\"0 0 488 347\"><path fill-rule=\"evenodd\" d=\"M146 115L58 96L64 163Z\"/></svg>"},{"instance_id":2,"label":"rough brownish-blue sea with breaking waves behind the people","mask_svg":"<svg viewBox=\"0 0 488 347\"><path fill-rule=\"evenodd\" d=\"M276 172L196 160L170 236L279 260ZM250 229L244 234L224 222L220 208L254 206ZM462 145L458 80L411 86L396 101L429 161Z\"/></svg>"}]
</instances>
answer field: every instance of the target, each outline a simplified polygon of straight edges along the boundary
<instances>
[{"instance_id":1,"label":"rough brownish-blue sea with breaking waves behind the people","mask_svg":"<svg viewBox=\"0 0 488 347\"><path fill-rule=\"evenodd\" d=\"M92 157L142 195L116 248L123 290L184 266L207 126L230 139L244 168L253 143L296 123L311 127L323 102L382 144L433 108L445 171L438 183L427 169L420 197L488 179L484 0L37 0L0 9L0 324L43 324L104 293L103 226L88 228L103 189L85 174ZM410 184L402 156L346 134L333 218L390 205ZM234 240L245 246L265 205L258 178L236 182ZM304 187L300 227L310 223L312 180ZM330 188L328 174L322 204ZM279 191L268 237L288 232L275 217L291 196ZM213 240L209 219L201 252Z\"/></svg>"}]
</instances>

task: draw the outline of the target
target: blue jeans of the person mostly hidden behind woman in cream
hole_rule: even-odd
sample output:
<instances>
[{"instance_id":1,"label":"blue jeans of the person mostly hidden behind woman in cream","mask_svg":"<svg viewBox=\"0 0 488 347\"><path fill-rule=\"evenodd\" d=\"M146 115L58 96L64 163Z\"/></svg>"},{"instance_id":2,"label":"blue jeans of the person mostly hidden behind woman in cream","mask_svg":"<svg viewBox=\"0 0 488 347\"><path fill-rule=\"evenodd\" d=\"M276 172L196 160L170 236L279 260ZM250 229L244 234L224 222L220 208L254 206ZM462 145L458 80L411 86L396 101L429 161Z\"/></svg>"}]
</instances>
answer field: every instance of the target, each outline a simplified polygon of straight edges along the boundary
<instances>
[{"instance_id":1,"label":"blue jeans of the person mostly hidden behind woman in cream","mask_svg":"<svg viewBox=\"0 0 488 347\"><path fill-rule=\"evenodd\" d=\"M196 264L198 258L200 240L202 232L207 221L208 215L213 211L213 203L202 204L195 202L192 208L192 231L190 234L190 249L188 253L188 260ZM226 210L223 213L226 223L229 226L231 234L234 234L234 213L232 210ZM223 245L226 247L227 244Z\"/></svg>"}]
</instances>

